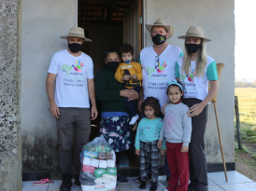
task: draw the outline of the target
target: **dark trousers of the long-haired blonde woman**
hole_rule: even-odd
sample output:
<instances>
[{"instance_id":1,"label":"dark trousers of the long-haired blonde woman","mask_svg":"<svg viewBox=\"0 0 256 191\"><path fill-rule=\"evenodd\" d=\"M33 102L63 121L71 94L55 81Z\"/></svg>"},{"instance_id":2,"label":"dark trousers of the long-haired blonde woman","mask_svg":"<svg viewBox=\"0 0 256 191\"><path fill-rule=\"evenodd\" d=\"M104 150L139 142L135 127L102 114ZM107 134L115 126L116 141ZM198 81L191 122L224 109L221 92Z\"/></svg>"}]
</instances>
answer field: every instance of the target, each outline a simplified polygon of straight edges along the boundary
<instances>
[{"instance_id":1,"label":"dark trousers of the long-haired blonde woman","mask_svg":"<svg viewBox=\"0 0 256 191\"><path fill-rule=\"evenodd\" d=\"M202 102L198 99L184 99L183 102L192 107L193 104ZM207 164L204 137L206 133L208 105L198 116L192 117L192 140L190 143L190 180L198 182L196 189L207 190Z\"/></svg>"}]
</instances>

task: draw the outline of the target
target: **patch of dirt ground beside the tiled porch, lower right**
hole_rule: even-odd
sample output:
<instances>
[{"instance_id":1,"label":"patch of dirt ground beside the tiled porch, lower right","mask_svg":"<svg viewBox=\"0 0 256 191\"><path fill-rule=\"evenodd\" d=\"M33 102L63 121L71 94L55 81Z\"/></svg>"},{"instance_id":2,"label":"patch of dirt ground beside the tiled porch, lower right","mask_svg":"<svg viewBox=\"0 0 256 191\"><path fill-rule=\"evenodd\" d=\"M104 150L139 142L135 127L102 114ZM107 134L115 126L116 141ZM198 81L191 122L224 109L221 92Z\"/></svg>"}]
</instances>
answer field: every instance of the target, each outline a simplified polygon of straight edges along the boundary
<instances>
[{"instance_id":1,"label":"patch of dirt ground beside the tiled porch, lower right","mask_svg":"<svg viewBox=\"0 0 256 191\"><path fill-rule=\"evenodd\" d=\"M249 179L256 182L256 144L243 141L249 152L240 152L235 150L235 171L247 176Z\"/></svg>"}]
</instances>

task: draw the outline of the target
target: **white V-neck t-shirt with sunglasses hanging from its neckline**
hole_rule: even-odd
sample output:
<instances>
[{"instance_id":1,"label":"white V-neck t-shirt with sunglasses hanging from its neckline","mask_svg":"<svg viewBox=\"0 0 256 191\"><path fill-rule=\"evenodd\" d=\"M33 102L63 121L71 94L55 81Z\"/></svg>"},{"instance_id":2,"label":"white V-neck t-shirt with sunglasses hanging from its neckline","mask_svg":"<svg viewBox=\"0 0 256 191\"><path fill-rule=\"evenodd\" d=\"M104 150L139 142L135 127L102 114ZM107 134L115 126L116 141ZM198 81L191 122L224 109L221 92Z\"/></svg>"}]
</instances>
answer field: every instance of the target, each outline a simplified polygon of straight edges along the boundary
<instances>
[{"instance_id":1,"label":"white V-neck t-shirt with sunglasses hanging from its neckline","mask_svg":"<svg viewBox=\"0 0 256 191\"><path fill-rule=\"evenodd\" d=\"M153 47L143 48L140 52L142 67L142 87L144 100L150 96L159 100L161 107L168 101L167 82L175 79L176 63L183 52L180 48L168 45L160 56Z\"/></svg>"}]
</instances>

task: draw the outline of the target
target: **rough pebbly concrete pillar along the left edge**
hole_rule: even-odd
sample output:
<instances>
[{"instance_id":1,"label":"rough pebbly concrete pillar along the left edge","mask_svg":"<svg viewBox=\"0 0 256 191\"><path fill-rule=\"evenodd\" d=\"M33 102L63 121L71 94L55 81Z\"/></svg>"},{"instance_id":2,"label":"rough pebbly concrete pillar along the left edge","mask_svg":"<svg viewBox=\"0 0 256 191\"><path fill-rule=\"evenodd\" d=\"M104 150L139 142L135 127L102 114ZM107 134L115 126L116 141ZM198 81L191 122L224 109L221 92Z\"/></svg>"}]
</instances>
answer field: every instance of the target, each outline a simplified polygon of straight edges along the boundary
<instances>
[{"instance_id":1,"label":"rough pebbly concrete pillar along the left edge","mask_svg":"<svg viewBox=\"0 0 256 191\"><path fill-rule=\"evenodd\" d=\"M0 2L0 189L21 190L21 0Z\"/></svg>"}]
</instances>

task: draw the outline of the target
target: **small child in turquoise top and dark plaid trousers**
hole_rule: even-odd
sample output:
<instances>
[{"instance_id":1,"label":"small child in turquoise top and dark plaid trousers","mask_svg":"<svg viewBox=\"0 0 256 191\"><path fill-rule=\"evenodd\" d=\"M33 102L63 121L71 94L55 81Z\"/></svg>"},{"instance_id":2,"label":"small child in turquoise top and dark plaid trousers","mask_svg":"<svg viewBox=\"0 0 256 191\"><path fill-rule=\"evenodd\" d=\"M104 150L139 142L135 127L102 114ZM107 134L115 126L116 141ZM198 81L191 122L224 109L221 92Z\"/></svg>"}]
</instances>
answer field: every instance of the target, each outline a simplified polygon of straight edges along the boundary
<instances>
[{"instance_id":1,"label":"small child in turquoise top and dark plaid trousers","mask_svg":"<svg viewBox=\"0 0 256 191\"><path fill-rule=\"evenodd\" d=\"M159 174L159 133L163 127L163 119L159 117L160 103L154 97L148 97L142 102L141 109L145 116L138 124L135 138L135 153L140 157L140 189L146 188L148 180L148 167L151 165L151 187L150 191L157 190ZM165 154L165 142L162 143L162 155Z\"/></svg>"}]
</instances>

